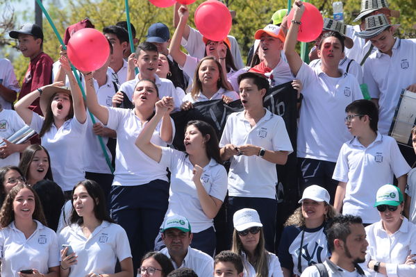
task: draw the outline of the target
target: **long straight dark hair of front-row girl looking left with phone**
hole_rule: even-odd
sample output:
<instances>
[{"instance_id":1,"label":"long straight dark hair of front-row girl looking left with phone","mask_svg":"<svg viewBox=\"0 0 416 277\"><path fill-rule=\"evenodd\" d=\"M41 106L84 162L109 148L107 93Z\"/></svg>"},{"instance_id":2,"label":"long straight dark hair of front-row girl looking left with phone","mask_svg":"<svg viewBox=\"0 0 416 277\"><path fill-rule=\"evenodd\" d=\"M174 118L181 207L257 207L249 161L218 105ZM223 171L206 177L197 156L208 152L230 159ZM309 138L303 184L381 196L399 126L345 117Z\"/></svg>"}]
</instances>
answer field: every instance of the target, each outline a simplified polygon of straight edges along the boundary
<instances>
[{"instance_id":1,"label":"long straight dark hair of front-row girl looking left with phone","mask_svg":"<svg viewBox=\"0 0 416 277\"><path fill-rule=\"evenodd\" d=\"M94 215L100 221L108 221L114 223L113 219L108 215L107 208L106 208L106 197L104 196L103 189L96 181L92 180L84 180L78 182L74 189L72 190L72 194L74 194L75 189L82 185L87 190L88 194L90 194L91 198L94 200ZM70 224L78 224L81 226L84 223L83 217L80 217L76 210L74 209L74 202L72 202L72 212L71 217L69 218Z\"/></svg>"}]
</instances>

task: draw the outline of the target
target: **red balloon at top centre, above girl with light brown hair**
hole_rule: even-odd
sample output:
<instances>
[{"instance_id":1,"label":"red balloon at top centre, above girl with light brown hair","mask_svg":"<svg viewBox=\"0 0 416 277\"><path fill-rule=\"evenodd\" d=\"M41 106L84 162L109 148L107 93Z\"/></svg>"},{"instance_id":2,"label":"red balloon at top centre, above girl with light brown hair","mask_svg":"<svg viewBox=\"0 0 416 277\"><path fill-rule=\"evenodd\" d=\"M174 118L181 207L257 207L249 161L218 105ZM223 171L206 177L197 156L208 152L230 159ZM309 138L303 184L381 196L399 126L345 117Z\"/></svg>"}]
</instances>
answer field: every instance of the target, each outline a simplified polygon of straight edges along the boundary
<instances>
[{"instance_id":1,"label":"red balloon at top centre, above girl with light brown hair","mask_svg":"<svg viewBox=\"0 0 416 277\"><path fill-rule=\"evenodd\" d=\"M219 1L208 0L201 3L195 10L194 18L197 29L208 40L220 42L230 33L231 13Z\"/></svg>"}]
</instances>

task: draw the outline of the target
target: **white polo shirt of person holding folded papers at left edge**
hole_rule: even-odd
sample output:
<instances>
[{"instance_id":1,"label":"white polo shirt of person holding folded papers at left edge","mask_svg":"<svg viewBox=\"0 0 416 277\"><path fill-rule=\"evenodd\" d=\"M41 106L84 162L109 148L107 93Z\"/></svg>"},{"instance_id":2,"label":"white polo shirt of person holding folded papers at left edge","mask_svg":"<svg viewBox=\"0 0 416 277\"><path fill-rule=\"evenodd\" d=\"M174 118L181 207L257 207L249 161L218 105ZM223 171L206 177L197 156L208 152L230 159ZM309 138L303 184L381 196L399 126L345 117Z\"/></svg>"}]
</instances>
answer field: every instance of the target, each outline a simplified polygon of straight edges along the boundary
<instances>
[{"instance_id":1,"label":"white polo shirt of person holding folded papers at left edge","mask_svg":"<svg viewBox=\"0 0 416 277\"><path fill-rule=\"evenodd\" d=\"M10 135L13 135L26 124L24 121L17 115L15 110L1 110L0 112L0 141L2 138L7 139ZM20 153L16 152L11 154L5 159L0 159L0 167L6 165L19 165Z\"/></svg>"}]
</instances>

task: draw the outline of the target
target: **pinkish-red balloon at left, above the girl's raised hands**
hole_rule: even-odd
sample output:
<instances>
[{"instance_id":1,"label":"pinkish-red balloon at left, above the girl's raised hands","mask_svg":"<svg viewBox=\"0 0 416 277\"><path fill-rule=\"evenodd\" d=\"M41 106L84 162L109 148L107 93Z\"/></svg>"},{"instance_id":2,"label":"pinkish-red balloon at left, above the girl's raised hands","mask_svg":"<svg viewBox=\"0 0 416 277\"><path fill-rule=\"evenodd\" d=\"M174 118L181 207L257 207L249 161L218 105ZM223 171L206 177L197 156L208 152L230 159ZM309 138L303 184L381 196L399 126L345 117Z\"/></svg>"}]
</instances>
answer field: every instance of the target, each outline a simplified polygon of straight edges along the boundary
<instances>
[{"instance_id":1,"label":"pinkish-red balloon at left, above the girl's raised hands","mask_svg":"<svg viewBox=\"0 0 416 277\"><path fill-rule=\"evenodd\" d=\"M110 56L107 38L94 28L83 28L72 35L67 45L68 58L77 69L92 72Z\"/></svg>"}]
</instances>

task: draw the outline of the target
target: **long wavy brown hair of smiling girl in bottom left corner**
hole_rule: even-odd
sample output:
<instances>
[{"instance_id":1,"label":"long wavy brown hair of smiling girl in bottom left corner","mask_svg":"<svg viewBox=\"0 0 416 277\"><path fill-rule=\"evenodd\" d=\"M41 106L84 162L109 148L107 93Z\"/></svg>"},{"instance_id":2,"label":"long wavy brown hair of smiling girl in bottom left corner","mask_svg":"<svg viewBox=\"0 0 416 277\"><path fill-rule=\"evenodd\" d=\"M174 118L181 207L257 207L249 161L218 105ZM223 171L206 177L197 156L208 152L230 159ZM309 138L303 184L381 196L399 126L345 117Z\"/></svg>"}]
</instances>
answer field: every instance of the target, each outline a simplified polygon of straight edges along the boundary
<instances>
[{"instance_id":1,"label":"long wavy brown hair of smiling girl in bottom left corner","mask_svg":"<svg viewBox=\"0 0 416 277\"><path fill-rule=\"evenodd\" d=\"M44 226L47 226L47 220L44 217L42 204L40 203L40 199L38 194L33 190L33 187L28 186L26 184L19 184L15 185L12 190L7 194L6 199L4 199L4 203L1 206L0 210L0 226L1 228L7 227L13 220L15 220L15 212L13 211L13 201L16 198L16 195L20 192L20 190L28 189L30 190L33 195L35 196L35 210L33 211L32 219L36 219L40 221Z\"/></svg>"}]
</instances>

